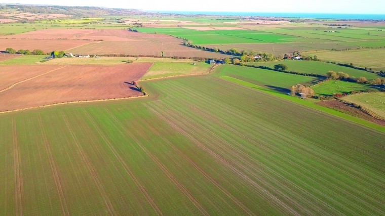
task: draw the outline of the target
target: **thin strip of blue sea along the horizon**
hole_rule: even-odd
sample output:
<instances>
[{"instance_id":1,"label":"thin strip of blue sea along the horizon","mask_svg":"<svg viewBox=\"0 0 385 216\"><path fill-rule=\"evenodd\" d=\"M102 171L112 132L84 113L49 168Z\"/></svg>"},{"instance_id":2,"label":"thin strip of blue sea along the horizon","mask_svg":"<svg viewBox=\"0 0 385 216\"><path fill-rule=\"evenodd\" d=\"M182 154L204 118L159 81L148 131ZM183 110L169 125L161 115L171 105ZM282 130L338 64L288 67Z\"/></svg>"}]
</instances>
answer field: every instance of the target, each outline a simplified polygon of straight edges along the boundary
<instances>
[{"instance_id":1,"label":"thin strip of blue sea along the horizon","mask_svg":"<svg viewBox=\"0 0 385 216\"><path fill-rule=\"evenodd\" d=\"M315 19L385 20L385 14L325 14L325 13L259 13L259 12L210 12L210 11L151 11L158 13L215 16L260 16Z\"/></svg>"}]
</instances>

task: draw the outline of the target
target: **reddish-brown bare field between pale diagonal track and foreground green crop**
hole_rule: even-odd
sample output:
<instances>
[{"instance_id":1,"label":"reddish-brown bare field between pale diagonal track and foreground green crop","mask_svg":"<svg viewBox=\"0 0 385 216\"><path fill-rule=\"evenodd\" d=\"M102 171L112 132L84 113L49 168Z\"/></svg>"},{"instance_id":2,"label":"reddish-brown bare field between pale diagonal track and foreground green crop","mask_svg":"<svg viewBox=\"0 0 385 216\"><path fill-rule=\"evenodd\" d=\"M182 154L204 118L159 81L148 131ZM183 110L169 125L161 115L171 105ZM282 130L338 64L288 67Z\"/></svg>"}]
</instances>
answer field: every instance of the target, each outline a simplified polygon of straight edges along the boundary
<instances>
[{"instance_id":1,"label":"reddish-brown bare field between pale diagonal track and foreground green crop","mask_svg":"<svg viewBox=\"0 0 385 216\"><path fill-rule=\"evenodd\" d=\"M45 65L46 66L46 65ZM62 68L15 85L0 93L0 111L43 105L141 96L129 84L138 80L150 63L101 65L61 65ZM39 67L42 67L39 65ZM46 66L46 67L60 67Z\"/></svg>"}]
</instances>

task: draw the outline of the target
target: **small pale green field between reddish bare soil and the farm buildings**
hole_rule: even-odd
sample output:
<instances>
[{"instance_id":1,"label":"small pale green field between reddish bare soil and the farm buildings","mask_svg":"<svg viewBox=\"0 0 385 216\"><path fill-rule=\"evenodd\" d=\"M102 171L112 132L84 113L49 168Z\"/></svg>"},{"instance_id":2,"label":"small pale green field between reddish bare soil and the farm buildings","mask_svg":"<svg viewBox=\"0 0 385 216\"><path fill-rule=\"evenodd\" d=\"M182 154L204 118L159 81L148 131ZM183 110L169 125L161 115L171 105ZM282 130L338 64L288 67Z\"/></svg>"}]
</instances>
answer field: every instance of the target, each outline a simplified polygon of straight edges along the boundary
<instances>
[{"instance_id":1,"label":"small pale green field between reddish bare soil and the farm buildings","mask_svg":"<svg viewBox=\"0 0 385 216\"><path fill-rule=\"evenodd\" d=\"M195 63L195 65L194 65ZM143 75L142 79L160 78L186 74L208 73L212 65L205 62L156 62Z\"/></svg>"}]
</instances>

